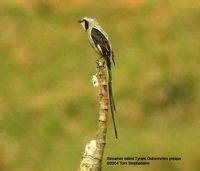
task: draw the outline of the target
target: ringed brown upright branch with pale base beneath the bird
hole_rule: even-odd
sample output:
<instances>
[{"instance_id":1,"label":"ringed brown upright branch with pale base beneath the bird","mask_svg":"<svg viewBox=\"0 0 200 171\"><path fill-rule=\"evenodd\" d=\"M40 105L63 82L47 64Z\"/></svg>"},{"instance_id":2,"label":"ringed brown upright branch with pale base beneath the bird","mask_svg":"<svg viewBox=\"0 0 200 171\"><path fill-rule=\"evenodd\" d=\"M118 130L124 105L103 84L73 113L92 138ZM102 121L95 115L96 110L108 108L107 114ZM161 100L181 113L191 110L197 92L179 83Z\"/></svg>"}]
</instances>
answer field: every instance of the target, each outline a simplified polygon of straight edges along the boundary
<instances>
[{"instance_id":1,"label":"ringed brown upright branch with pale base beneath the bird","mask_svg":"<svg viewBox=\"0 0 200 171\"><path fill-rule=\"evenodd\" d=\"M77 171L101 171L104 147L106 144L107 115L108 115L108 91L106 73L103 65L99 67L99 122L96 139L86 144L85 152L81 159L80 168Z\"/></svg>"}]
</instances>

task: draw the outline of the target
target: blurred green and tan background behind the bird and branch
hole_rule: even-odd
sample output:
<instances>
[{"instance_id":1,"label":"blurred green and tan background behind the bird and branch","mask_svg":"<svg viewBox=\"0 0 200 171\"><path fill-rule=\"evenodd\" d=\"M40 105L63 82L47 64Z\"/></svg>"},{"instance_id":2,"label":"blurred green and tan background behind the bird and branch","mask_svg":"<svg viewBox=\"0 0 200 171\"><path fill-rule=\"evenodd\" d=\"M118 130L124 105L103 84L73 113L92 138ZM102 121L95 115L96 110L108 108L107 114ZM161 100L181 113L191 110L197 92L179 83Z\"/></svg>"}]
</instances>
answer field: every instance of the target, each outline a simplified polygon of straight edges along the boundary
<instances>
[{"instance_id":1,"label":"blurred green and tan background behind the bird and branch","mask_svg":"<svg viewBox=\"0 0 200 171\"><path fill-rule=\"evenodd\" d=\"M0 171L78 169L99 107L84 16L116 54L119 139L109 115L103 171L199 171L198 0L0 1ZM108 156L182 160L107 166Z\"/></svg>"}]
</instances>

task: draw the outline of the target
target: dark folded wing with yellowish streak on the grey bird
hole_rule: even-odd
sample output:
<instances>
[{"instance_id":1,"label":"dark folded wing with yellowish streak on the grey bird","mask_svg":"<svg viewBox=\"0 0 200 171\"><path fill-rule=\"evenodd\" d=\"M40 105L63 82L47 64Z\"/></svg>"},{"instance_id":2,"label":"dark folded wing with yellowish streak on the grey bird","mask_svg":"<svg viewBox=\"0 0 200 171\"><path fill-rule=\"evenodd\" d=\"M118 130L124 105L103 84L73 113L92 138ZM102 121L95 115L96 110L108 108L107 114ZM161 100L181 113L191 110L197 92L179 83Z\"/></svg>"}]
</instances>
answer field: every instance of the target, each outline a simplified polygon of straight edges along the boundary
<instances>
[{"instance_id":1,"label":"dark folded wing with yellowish streak on the grey bird","mask_svg":"<svg viewBox=\"0 0 200 171\"><path fill-rule=\"evenodd\" d=\"M99 53L105 57L109 58L111 56L111 48L108 39L105 37L101 31L96 28L91 30L91 37L94 41Z\"/></svg>"}]
</instances>

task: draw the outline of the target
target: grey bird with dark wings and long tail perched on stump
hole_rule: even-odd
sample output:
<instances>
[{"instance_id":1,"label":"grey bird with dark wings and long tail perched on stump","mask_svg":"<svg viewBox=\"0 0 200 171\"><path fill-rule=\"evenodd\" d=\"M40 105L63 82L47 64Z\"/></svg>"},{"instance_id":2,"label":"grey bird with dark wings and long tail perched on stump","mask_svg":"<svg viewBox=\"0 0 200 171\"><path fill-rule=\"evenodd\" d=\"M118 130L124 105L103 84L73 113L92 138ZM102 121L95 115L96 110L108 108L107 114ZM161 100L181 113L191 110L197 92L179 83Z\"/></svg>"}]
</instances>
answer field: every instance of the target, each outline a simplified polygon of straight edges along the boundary
<instances>
[{"instance_id":1,"label":"grey bird with dark wings and long tail perched on stump","mask_svg":"<svg viewBox=\"0 0 200 171\"><path fill-rule=\"evenodd\" d=\"M116 106L112 91L112 70L111 64L115 65L114 52L111 46L111 42L107 33L102 29L100 24L96 19L91 17L84 17L78 21L88 34L88 39L90 45L99 55L98 59L103 58L106 62L108 71L108 91L109 91L109 101L110 109L112 115L112 121L114 125L115 137L118 138L117 126L115 122Z\"/></svg>"}]
</instances>

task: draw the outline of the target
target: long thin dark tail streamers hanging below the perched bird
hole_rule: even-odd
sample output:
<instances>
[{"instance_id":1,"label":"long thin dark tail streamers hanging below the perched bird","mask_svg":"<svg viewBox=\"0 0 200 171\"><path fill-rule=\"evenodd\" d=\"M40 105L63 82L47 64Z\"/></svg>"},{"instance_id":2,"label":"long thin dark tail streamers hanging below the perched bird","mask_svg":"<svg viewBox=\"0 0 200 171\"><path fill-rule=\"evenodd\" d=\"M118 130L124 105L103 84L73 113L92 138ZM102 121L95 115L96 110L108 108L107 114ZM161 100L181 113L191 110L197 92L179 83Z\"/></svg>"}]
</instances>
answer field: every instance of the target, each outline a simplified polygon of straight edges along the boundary
<instances>
[{"instance_id":1,"label":"long thin dark tail streamers hanging below the perched bird","mask_svg":"<svg viewBox=\"0 0 200 171\"><path fill-rule=\"evenodd\" d=\"M112 121L114 125L115 137L118 138L117 126L115 122L116 107L115 107L115 101L114 101L113 92L112 92L111 65L107 64L107 70L108 70L108 91L109 91L110 109L111 109Z\"/></svg>"}]
</instances>

